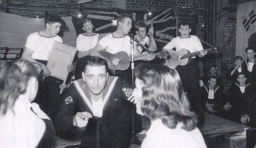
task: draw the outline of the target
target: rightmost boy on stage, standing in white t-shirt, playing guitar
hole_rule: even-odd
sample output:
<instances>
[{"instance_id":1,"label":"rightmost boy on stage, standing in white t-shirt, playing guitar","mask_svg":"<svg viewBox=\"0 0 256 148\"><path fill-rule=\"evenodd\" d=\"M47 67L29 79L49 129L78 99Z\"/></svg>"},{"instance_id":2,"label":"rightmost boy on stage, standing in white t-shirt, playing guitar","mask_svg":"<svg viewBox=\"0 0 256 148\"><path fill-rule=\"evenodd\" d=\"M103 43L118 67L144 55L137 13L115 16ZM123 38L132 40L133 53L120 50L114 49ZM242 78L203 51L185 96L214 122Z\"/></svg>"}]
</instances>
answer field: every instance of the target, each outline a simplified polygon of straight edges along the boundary
<instances>
[{"instance_id":1,"label":"rightmost boy on stage, standing in white t-shirt, playing guitar","mask_svg":"<svg viewBox=\"0 0 256 148\"><path fill-rule=\"evenodd\" d=\"M173 53L172 49L175 47L176 52L179 52L181 49L187 49L190 53L200 52L198 57L202 58L207 54L207 51L203 51L203 46L194 35L190 35L191 25L188 22L182 22L180 24L180 36L174 38L166 46L164 46L163 51L169 51L171 56L171 61L179 60L178 54ZM175 69L180 75L184 90L188 93L188 100L190 102L191 108L199 116L198 125L204 124L204 110L201 107L202 98L200 96L199 90L199 76L196 67L196 56L191 58L190 64L187 66L177 66Z\"/></svg>"}]
</instances>

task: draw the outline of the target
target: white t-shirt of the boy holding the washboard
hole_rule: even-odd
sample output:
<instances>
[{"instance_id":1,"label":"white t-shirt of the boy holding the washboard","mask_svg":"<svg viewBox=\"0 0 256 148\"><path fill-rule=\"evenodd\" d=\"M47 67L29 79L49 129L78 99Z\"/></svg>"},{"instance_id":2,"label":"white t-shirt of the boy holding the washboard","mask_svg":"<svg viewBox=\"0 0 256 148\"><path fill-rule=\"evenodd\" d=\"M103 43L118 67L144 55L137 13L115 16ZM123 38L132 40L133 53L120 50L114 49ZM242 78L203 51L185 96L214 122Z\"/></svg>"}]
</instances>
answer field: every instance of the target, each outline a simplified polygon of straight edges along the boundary
<instances>
[{"instance_id":1,"label":"white t-shirt of the boy holding the washboard","mask_svg":"<svg viewBox=\"0 0 256 148\"><path fill-rule=\"evenodd\" d=\"M54 41L63 42L58 35L48 38L41 36L39 32L34 32L29 34L25 46L34 51L31 55L33 59L48 61Z\"/></svg>"}]
</instances>

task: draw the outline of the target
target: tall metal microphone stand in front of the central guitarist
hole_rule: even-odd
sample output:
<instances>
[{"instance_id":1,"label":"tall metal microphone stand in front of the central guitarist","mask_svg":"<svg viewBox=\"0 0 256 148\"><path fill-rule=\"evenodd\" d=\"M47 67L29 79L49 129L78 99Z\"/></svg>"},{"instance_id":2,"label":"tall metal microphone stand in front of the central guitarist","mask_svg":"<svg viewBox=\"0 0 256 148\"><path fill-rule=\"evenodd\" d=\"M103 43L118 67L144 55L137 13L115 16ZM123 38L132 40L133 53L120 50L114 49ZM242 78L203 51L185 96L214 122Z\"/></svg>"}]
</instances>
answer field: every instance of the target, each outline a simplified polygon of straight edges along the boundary
<instances>
[{"instance_id":1,"label":"tall metal microphone stand in front of the central guitarist","mask_svg":"<svg viewBox=\"0 0 256 148\"><path fill-rule=\"evenodd\" d=\"M132 48L132 63L131 63L131 68L132 68L132 86L133 84L133 70L134 70L134 34L130 33L129 36L131 37L130 43L131 43L131 48ZM130 144L137 144L141 145L141 141L136 137L135 131L134 131L134 109L132 107L132 139L130 140Z\"/></svg>"}]
</instances>

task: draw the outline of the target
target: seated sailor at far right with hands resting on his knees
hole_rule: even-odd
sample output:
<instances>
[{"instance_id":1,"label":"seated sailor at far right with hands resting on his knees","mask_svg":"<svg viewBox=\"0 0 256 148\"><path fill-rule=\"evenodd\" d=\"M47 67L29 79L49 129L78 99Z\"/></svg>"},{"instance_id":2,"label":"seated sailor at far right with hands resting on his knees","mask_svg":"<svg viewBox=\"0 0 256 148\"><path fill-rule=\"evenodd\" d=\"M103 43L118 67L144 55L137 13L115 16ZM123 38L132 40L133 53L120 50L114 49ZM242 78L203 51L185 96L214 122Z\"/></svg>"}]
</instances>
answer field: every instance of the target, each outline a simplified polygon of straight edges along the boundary
<instances>
[{"instance_id":1,"label":"seated sailor at far right with hands resting on his knees","mask_svg":"<svg viewBox=\"0 0 256 148\"><path fill-rule=\"evenodd\" d=\"M224 105L230 115L228 119L243 124L250 121L249 114L255 102L255 90L252 84L246 83L246 79L245 74L238 74L238 82L229 87Z\"/></svg>"}]
</instances>

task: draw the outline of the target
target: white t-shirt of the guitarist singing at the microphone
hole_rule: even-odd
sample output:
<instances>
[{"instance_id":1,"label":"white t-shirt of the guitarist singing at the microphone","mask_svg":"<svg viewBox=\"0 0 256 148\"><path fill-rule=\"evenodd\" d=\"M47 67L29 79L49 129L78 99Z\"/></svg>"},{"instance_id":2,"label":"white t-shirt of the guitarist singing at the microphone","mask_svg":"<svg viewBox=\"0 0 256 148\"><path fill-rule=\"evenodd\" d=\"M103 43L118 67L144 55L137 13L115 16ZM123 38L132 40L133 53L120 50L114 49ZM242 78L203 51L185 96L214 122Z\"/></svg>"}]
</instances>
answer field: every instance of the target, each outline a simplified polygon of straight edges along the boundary
<instances>
[{"instance_id":1,"label":"white t-shirt of the guitarist singing at the microphone","mask_svg":"<svg viewBox=\"0 0 256 148\"><path fill-rule=\"evenodd\" d=\"M122 38L116 38L113 36L113 34L108 34L105 37L103 37L99 44L103 47L103 49L106 49L107 52L115 54L120 51L124 51L128 54L128 56L131 55L131 38L126 35Z\"/></svg>"}]
</instances>

